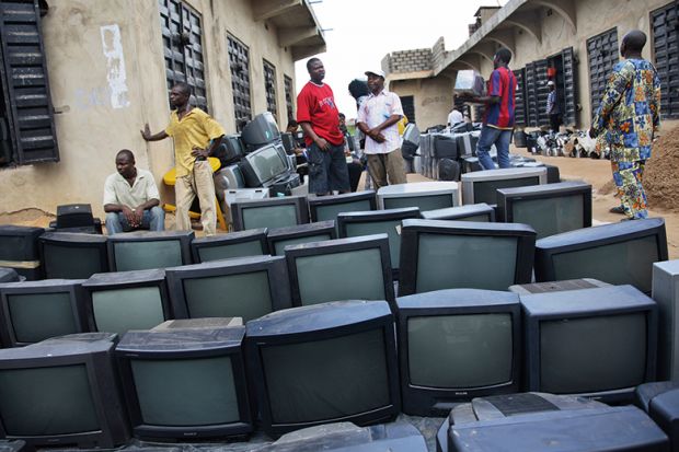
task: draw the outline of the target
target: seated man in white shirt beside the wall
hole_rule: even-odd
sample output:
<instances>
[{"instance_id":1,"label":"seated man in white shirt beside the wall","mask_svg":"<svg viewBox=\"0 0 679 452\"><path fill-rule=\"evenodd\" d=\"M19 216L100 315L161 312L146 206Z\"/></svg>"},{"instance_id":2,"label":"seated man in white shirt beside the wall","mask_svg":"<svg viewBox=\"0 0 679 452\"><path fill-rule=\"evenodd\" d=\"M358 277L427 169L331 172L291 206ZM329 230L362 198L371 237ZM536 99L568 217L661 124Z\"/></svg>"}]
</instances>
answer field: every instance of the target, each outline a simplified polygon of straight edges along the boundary
<instances>
[{"instance_id":1,"label":"seated man in white shirt beside the wall","mask_svg":"<svg viewBox=\"0 0 679 452\"><path fill-rule=\"evenodd\" d=\"M159 207L160 194L153 175L135 167L135 155L123 149L115 158L117 173L106 177L104 211L110 235L137 229L162 231L165 212Z\"/></svg>"}]
</instances>

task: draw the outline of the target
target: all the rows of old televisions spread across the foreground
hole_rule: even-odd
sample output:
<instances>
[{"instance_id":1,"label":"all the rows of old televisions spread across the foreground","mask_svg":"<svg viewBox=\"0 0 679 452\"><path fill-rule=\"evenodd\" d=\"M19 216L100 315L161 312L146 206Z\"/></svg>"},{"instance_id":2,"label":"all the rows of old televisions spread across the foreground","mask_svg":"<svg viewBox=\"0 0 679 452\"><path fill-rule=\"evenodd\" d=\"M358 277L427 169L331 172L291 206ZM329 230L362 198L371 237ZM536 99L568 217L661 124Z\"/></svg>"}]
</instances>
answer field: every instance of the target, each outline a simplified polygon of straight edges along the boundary
<instances>
[{"instance_id":1,"label":"all the rows of old televisions spread across the foreground","mask_svg":"<svg viewBox=\"0 0 679 452\"><path fill-rule=\"evenodd\" d=\"M204 239L0 227L2 264L48 278L0 285L0 433L111 448L130 426L139 438L276 437L450 413L437 444L462 451L494 450L516 422L526 441L551 434L544 425L636 422L630 407L516 394L628 403L679 376L679 262L663 262L664 221L589 228L591 187L541 185L544 172L464 175L464 206L457 183L240 202L241 231ZM606 283L563 290L531 285L533 271ZM643 416L634 438L602 433L606 450L666 443ZM487 449L465 449L468 433Z\"/></svg>"}]
</instances>

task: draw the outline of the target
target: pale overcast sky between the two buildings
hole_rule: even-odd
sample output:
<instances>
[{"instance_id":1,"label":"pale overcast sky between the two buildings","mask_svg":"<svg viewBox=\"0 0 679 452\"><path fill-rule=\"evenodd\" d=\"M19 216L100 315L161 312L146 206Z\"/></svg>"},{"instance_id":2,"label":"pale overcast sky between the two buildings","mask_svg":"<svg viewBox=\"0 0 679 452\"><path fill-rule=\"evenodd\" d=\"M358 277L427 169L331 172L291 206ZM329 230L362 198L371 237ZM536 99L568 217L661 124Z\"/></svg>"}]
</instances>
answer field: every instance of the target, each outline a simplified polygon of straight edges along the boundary
<instances>
[{"instance_id":1,"label":"pale overcast sky between the two buildings","mask_svg":"<svg viewBox=\"0 0 679 452\"><path fill-rule=\"evenodd\" d=\"M381 68L389 53L431 48L444 36L446 50L469 38L468 25L481 5L504 5L507 0L311 0L323 30L327 51L315 55L325 67L325 80L340 112L356 117L356 102L347 85ZM295 65L297 92L309 81L308 58Z\"/></svg>"}]
</instances>

